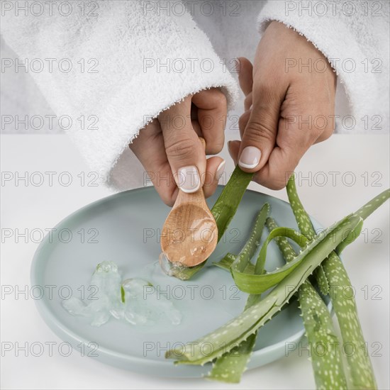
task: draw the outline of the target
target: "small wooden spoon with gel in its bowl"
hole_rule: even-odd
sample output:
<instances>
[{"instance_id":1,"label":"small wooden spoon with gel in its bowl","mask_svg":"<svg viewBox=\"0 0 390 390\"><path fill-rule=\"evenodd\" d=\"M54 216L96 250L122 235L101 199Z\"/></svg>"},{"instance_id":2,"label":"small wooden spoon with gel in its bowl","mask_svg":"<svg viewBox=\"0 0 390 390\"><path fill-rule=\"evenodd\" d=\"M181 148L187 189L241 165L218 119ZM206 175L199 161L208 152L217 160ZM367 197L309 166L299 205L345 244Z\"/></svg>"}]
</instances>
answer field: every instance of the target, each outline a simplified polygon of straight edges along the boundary
<instances>
[{"instance_id":1,"label":"small wooden spoon with gel in its bowl","mask_svg":"<svg viewBox=\"0 0 390 390\"><path fill-rule=\"evenodd\" d=\"M204 143L203 138L201 141ZM217 241L216 220L206 204L203 189L192 194L179 189L160 236L167 260L194 267L211 255Z\"/></svg>"}]
</instances>

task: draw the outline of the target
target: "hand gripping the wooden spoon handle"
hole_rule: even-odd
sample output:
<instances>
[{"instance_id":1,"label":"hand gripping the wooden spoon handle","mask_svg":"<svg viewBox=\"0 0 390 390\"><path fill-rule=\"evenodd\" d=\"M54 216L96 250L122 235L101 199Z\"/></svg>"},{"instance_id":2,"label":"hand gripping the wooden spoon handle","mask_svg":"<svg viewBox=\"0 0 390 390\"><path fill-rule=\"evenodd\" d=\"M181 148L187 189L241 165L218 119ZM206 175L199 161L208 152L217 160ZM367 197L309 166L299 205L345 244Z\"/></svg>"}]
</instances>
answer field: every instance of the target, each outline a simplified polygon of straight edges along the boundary
<instances>
[{"instance_id":1,"label":"hand gripping the wooden spoon handle","mask_svg":"<svg viewBox=\"0 0 390 390\"><path fill-rule=\"evenodd\" d=\"M226 111L225 95L219 89L206 89L162 111L130 143L168 206L174 204L178 186L185 192L203 186L206 197L216 190L225 160L206 160L206 154L223 148ZM199 136L206 140L206 152Z\"/></svg>"}]
</instances>

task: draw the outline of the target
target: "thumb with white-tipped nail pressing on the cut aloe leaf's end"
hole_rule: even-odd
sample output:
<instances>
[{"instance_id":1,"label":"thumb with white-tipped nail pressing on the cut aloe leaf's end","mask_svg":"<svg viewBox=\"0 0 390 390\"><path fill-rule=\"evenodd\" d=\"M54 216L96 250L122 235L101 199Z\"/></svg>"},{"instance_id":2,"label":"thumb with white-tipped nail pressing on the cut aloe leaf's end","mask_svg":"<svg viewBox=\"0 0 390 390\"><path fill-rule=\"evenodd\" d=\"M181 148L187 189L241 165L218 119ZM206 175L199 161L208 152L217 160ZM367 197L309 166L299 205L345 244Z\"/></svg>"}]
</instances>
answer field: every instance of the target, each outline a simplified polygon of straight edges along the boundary
<instances>
[{"instance_id":1,"label":"thumb with white-tipped nail pressing on the cut aloe leaf's end","mask_svg":"<svg viewBox=\"0 0 390 390\"><path fill-rule=\"evenodd\" d=\"M245 172L257 172L274 149L283 96L275 96L272 89L260 89L253 96L252 112L245 126L238 153L238 165Z\"/></svg>"}]
</instances>

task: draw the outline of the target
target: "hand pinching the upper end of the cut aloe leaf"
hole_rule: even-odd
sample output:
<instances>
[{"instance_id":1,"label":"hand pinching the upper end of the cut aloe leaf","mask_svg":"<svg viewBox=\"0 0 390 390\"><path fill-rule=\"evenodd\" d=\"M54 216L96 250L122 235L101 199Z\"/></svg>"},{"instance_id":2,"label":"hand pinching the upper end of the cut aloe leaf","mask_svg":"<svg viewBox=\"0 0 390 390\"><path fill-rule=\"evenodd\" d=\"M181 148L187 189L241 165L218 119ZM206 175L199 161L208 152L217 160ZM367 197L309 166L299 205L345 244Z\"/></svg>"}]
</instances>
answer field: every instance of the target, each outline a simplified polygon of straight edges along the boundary
<instances>
[{"instance_id":1,"label":"hand pinching the upper end of the cut aloe leaf","mask_svg":"<svg viewBox=\"0 0 390 390\"><path fill-rule=\"evenodd\" d=\"M336 75L305 37L279 22L265 30L254 67L239 60L242 141L231 141L229 152L245 172L257 172L255 182L282 189L306 150L333 133Z\"/></svg>"}]
</instances>

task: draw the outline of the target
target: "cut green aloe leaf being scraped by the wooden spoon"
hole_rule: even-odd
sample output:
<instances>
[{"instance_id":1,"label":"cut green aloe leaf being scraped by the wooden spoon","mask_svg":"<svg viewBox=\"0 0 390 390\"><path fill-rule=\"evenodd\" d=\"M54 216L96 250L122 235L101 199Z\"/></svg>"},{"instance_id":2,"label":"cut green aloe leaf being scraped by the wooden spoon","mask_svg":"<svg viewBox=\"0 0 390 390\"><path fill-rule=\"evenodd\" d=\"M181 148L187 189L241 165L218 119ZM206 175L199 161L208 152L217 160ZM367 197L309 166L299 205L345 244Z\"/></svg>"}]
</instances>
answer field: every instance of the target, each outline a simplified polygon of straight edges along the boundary
<instances>
[{"instance_id":1,"label":"cut green aloe leaf being scraped by the wooden spoon","mask_svg":"<svg viewBox=\"0 0 390 390\"><path fill-rule=\"evenodd\" d=\"M230 221L233 219L233 216L235 216L235 212L240 205L241 199L243 199L245 190L250 184L252 177L252 173L243 172L240 167L236 165L229 181L223 188L221 195L218 196L216 203L211 208L211 213L216 219L218 241L221 240L221 237L228 228ZM196 265L195 267L172 269L172 276L182 280L191 279L191 277L199 272L205 264L206 261Z\"/></svg>"}]
</instances>

